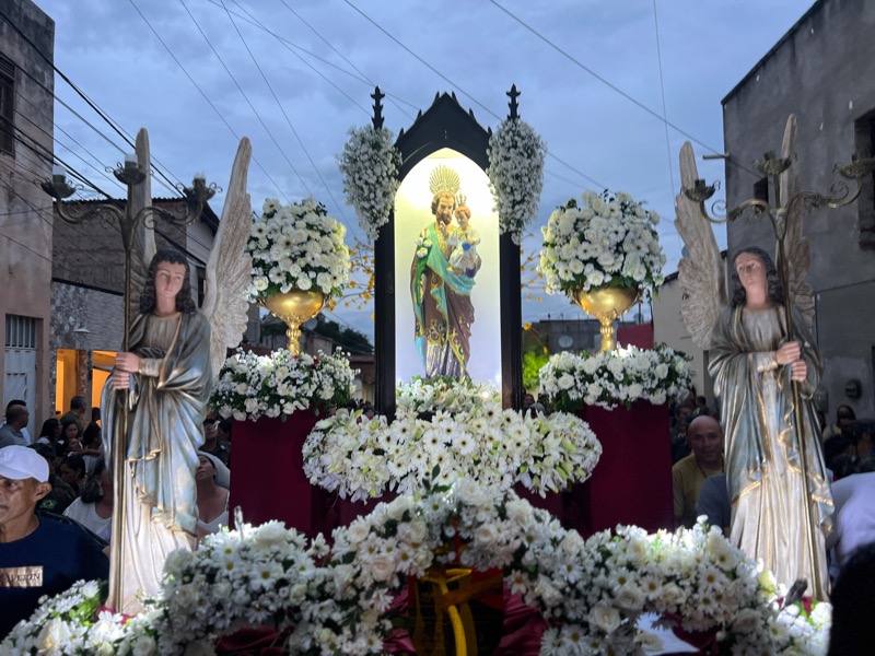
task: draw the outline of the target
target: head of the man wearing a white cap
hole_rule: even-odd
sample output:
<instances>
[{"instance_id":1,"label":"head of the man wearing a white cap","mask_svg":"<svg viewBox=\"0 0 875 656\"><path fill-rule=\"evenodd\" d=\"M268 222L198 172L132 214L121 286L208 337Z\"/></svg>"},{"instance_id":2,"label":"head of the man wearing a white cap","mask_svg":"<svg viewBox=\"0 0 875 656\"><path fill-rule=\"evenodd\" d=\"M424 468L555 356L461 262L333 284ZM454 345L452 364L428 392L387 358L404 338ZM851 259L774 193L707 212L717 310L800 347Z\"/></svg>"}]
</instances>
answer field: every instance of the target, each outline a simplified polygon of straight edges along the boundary
<instances>
[{"instance_id":1,"label":"head of the man wearing a white cap","mask_svg":"<svg viewBox=\"0 0 875 656\"><path fill-rule=\"evenodd\" d=\"M26 446L0 449L0 540L20 539L36 504L51 491L48 462ZM21 535L23 532L23 535Z\"/></svg>"}]
</instances>

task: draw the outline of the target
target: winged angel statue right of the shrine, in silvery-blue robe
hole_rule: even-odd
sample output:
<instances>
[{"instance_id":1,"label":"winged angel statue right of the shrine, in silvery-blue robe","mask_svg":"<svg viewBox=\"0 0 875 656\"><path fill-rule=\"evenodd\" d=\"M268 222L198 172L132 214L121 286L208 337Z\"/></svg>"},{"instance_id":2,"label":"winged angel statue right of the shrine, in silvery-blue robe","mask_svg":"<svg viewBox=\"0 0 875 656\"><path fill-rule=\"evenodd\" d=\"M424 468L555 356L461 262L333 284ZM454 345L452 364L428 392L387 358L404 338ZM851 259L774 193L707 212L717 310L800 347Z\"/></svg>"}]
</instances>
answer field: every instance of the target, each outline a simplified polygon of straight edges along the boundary
<instances>
[{"instance_id":1,"label":"winged angel statue right of the shrine, in silvery-blue robe","mask_svg":"<svg viewBox=\"0 0 875 656\"><path fill-rule=\"evenodd\" d=\"M794 137L791 117L784 153ZM689 142L680 151L680 171L684 188L692 189L697 171ZM785 201L795 180L789 172L780 175ZM720 250L700 203L680 194L676 209L675 225L689 254L678 265L681 314L696 344L710 353L708 371L721 398L730 538L761 559L780 583L804 578L809 594L825 599L832 496L812 402L822 363L809 330L814 305L804 284L808 245L800 216L785 218L779 247L779 254L791 254L783 262L789 289L772 257L748 246L732 254L727 298Z\"/></svg>"}]
</instances>

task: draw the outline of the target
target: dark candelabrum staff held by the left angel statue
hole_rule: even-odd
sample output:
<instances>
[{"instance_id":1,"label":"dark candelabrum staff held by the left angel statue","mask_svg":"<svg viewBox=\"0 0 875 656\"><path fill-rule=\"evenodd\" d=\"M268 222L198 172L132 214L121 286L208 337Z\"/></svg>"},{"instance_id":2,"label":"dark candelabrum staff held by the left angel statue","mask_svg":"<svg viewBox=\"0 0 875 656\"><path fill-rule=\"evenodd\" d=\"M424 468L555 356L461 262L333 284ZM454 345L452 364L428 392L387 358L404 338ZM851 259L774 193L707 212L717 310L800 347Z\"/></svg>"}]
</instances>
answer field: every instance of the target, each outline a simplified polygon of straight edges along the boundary
<instances>
[{"instance_id":1,"label":"dark candelabrum staff held by the left angel statue","mask_svg":"<svg viewBox=\"0 0 875 656\"><path fill-rule=\"evenodd\" d=\"M43 190L54 199L55 213L67 223L82 224L92 220L105 221L107 215L118 222L121 230L121 244L125 248L125 332L122 350L129 350L130 341L130 306L131 306L131 260L133 255L135 236L140 225L148 227L154 226L156 219L166 221L179 226L188 226L194 223L203 211L203 206L212 198L217 191L215 185L207 185L202 174L196 174L191 187L179 186L186 204L186 211L182 216L177 216L162 208L145 206L138 212L133 212L132 194L135 187L142 184L147 174L140 169L137 155L133 153L125 155L125 163L117 164L110 169L116 179L127 188L127 201L124 209L113 203L101 203L89 207L81 212L70 212L65 207L63 199L72 196L78 187L68 184L67 173L60 166L52 167L51 178L40 183ZM125 458L128 450L128 390L122 395L121 409L121 434L116 436L116 444L112 445L112 471L114 473L113 492L113 528L110 538L110 565L109 565L109 598L107 605L117 610L121 610L125 598L121 589L121 541L124 540L125 528L125 496L126 480Z\"/></svg>"}]
</instances>

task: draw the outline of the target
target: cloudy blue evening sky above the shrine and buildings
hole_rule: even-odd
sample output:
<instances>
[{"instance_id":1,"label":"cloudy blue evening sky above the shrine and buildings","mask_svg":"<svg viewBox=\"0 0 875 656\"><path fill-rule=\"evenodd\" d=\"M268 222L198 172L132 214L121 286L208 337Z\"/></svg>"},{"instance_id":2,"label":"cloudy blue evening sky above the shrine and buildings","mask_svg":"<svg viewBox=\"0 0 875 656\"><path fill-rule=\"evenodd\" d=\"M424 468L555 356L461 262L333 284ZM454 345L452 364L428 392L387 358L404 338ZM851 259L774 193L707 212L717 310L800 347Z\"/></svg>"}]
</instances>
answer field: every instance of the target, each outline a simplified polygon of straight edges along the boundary
<instances>
[{"instance_id":1,"label":"cloudy blue evening sky above the shrine and buildings","mask_svg":"<svg viewBox=\"0 0 875 656\"><path fill-rule=\"evenodd\" d=\"M370 122L374 85L397 134L443 92L494 130L516 84L520 115L548 149L524 254L537 255L557 206L609 188L662 215L669 274L681 248L673 224L680 147L690 139L700 175L722 184L723 162L701 160L723 151L721 99L812 0L36 3L56 23L56 67L119 131L147 128L153 164L170 179L190 183L202 171L225 187L246 136L254 209L313 196L350 227L350 244L364 235L337 155L349 128ZM122 197L105 167L132 149L57 75L55 93L56 155ZM173 195L158 180L152 191ZM211 201L217 213L222 200ZM725 246L722 230L718 242ZM581 316L568 298L547 296L530 269L524 321ZM372 313L372 302L353 302L329 316L373 336Z\"/></svg>"}]
</instances>

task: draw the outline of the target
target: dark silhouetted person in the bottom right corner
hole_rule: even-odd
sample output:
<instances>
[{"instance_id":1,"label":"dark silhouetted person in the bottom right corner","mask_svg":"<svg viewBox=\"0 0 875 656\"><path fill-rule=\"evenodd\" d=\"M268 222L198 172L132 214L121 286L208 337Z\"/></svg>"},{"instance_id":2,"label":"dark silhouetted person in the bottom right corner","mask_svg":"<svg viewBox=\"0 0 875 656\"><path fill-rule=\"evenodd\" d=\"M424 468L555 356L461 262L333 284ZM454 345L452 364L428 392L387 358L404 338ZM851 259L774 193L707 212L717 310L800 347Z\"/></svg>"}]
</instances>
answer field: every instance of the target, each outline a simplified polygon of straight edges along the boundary
<instances>
[{"instance_id":1,"label":"dark silhouetted person in the bottom right corner","mask_svg":"<svg viewBox=\"0 0 875 656\"><path fill-rule=\"evenodd\" d=\"M830 596L832 629L827 656L872 654L875 645L875 543L858 550L839 573Z\"/></svg>"}]
</instances>

